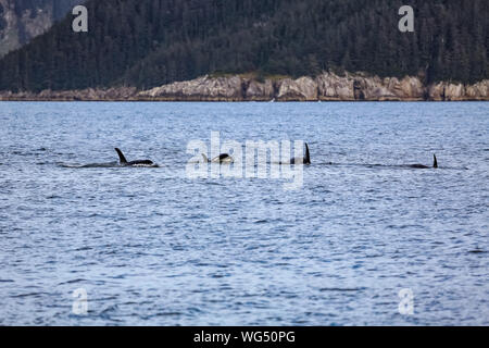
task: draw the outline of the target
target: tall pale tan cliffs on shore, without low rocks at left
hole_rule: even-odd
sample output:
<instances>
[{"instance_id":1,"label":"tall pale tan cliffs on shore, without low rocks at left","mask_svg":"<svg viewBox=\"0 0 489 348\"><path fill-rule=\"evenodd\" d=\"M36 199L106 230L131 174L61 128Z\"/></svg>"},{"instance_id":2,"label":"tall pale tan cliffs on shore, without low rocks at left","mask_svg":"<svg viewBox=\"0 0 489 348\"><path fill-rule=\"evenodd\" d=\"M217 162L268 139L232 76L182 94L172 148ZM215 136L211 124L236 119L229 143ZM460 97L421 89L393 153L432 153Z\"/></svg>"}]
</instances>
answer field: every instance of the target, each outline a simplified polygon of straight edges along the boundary
<instances>
[{"instance_id":1,"label":"tall pale tan cliffs on shore, without low rocks at left","mask_svg":"<svg viewBox=\"0 0 489 348\"><path fill-rule=\"evenodd\" d=\"M385 101L385 100L489 100L489 80L475 85L438 83L425 86L418 77L380 78L367 74L343 76L323 73L312 77L256 80L252 77L203 76L137 95L145 100L188 101Z\"/></svg>"}]
</instances>

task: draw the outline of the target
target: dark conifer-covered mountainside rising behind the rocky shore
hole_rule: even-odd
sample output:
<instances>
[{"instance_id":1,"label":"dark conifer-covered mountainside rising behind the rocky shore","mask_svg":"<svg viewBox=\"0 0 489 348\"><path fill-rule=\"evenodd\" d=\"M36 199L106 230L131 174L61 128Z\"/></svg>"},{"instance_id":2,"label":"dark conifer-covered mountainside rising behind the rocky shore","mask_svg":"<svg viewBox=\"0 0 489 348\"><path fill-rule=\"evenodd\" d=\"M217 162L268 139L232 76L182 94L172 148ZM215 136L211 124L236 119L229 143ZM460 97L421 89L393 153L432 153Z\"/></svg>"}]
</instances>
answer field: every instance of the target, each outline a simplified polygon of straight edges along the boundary
<instances>
[{"instance_id":1,"label":"dark conifer-covered mountainside rising behind the rocky shore","mask_svg":"<svg viewBox=\"0 0 489 348\"><path fill-rule=\"evenodd\" d=\"M315 76L363 71L426 83L489 78L487 0L89 0L0 61L0 90L151 88L208 73Z\"/></svg>"}]
</instances>

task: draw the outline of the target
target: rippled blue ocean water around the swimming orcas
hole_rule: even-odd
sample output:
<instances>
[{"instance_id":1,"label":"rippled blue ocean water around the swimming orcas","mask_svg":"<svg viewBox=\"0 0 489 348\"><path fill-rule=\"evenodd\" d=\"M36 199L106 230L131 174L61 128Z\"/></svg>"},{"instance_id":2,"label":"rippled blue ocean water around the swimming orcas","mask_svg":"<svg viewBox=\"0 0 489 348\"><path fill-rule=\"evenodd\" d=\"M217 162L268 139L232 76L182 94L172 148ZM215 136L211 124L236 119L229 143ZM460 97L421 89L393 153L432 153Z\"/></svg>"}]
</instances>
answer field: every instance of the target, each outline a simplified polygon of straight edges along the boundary
<instances>
[{"instance_id":1,"label":"rippled blue ocean water around the swimming orcas","mask_svg":"<svg viewBox=\"0 0 489 348\"><path fill-rule=\"evenodd\" d=\"M308 141L303 185L189 177L211 132ZM488 132L487 102L1 102L0 325L489 325Z\"/></svg>"}]
</instances>

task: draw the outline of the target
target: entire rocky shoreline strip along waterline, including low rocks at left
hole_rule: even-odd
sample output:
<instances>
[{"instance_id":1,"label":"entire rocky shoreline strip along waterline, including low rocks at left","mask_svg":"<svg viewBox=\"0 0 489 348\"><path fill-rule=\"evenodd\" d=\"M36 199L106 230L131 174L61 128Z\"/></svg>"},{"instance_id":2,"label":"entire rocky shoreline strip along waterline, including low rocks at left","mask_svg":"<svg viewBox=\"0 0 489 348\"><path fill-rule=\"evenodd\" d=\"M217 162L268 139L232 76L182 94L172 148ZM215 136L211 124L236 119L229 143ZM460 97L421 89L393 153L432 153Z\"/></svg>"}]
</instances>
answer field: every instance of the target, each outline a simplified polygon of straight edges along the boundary
<instances>
[{"instance_id":1,"label":"entire rocky shoreline strip along waterline, including low rocks at left","mask_svg":"<svg viewBox=\"0 0 489 348\"><path fill-rule=\"evenodd\" d=\"M0 91L16 101L477 101L489 100L489 80L474 85L440 82L425 86L418 77L380 78L364 73L317 77L202 76L149 90L135 87L52 91Z\"/></svg>"}]
</instances>

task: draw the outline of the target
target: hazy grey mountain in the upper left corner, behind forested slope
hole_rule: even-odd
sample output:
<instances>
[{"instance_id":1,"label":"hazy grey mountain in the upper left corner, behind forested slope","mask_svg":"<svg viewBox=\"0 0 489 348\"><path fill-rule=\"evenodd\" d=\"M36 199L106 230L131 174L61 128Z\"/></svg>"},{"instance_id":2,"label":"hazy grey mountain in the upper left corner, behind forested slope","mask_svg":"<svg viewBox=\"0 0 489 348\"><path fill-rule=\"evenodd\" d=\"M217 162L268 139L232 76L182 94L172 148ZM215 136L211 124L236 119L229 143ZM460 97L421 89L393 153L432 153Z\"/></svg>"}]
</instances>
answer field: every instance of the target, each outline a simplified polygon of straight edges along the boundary
<instances>
[{"instance_id":1,"label":"hazy grey mountain in the upper left corner, behind forested slope","mask_svg":"<svg viewBox=\"0 0 489 348\"><path fill-rule=\"evenodd\" d=\"M0 0L0 57L49 29L83 0Z\"/></svg>"}]
</instances>

